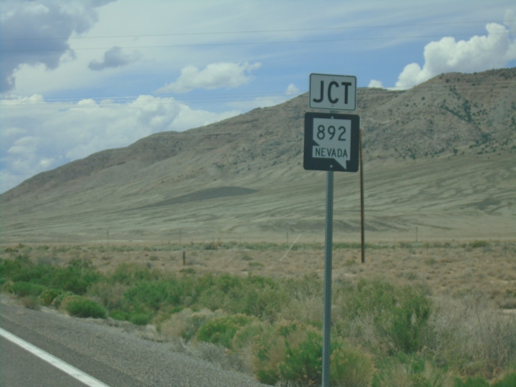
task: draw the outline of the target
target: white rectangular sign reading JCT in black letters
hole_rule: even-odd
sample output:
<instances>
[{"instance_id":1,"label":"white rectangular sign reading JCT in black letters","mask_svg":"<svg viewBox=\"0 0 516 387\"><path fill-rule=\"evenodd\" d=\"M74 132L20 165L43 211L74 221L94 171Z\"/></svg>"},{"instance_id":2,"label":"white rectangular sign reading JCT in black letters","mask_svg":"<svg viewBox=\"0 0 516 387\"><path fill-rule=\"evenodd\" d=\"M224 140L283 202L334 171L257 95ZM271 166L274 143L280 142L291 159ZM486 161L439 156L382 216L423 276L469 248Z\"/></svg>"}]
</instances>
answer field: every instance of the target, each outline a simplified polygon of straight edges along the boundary
<instances>
[{"instance_id":1,"label":"white rectangular sign reading JCT in black letters","mask_svg":"<svg viewBox=\"0 0 516 387\"><path fill-rule=\"evenodd\" d=\"M357 77L310 74L310 107L355 110L357 108Z\"/></svg>"}]
</instances>

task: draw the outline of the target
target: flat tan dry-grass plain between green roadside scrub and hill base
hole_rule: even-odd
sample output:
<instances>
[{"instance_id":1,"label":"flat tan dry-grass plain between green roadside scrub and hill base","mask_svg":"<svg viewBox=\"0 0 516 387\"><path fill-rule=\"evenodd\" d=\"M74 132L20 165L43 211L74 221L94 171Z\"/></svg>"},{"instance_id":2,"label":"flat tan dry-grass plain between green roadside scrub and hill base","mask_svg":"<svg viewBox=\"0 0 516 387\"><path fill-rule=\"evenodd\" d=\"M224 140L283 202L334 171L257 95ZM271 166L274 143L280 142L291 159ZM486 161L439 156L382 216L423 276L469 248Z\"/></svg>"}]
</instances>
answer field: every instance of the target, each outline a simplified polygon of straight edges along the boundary
<instances>
[{"instance_id":1,"label":"flat tan dry-grass plain between green roadside scrub and hill base","mask_svg":"<svg viewBox=\"0 0 516 387\"><path fill-rule=\"evenodd\" d=\"M122 263L134 263L165 272L275 278L317 273L322 279L325 269L324 246L299 240L290 241L290 246L215 241L184 246L111 242L3 247L2 257L26 253L35 262L58 265L72 259L90 260L106 273ZM431 296L487 297L504 312L516 312L516 244L512 242L368 244L365 263L359 244L335 244L332 256L333 281L356 284L362 278L383 279L422 287Z\"/></svg>"}]
</instances>

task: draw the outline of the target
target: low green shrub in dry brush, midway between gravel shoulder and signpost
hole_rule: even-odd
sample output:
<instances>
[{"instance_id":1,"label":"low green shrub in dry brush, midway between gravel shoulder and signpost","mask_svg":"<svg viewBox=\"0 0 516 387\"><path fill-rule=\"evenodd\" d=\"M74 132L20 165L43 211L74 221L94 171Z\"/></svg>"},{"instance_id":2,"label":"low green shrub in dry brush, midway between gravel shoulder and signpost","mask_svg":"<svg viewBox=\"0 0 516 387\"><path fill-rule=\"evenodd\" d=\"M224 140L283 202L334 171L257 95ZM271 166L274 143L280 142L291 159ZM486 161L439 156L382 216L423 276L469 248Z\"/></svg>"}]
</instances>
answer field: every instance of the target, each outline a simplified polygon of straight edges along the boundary
<instances>
[{"instance_id":1,"label":"low green shrub in dry brush, midway between gravel shoulder and signpost","mask_svg":"<svg viewBox=\"0 0 516 387\"><path fill-rule=\"evenodd\" d=\"M206 322L197 331L196 338L199 341L221 345L231 348L231 343L236 332L250 324L252 317L245 314L222 316Z\"/></svg>"}]
</instances>

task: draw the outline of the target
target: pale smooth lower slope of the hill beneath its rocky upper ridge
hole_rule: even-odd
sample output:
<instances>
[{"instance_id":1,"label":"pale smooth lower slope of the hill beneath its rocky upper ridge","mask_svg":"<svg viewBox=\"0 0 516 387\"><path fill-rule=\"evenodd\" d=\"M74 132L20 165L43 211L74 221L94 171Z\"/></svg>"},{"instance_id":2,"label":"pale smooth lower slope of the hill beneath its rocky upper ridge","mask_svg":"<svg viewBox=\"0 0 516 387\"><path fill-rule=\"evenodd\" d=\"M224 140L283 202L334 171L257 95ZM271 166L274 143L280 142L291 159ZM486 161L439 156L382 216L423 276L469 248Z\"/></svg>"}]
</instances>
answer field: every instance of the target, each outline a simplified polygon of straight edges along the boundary
<instances>
[{"instance_id":1,"label":"pale smooth lower slope of the hill beneath its rocky upper ridge","mask_svg":"<svg viewBox=\"0 0 516 387\"><path fill-rule=\"evenodd\" d=\"M363 169L368 242L516 241L513 153L379 159ZM127 178L134 186L72 181L74 193L56 188L5 202L0 243L286 243L287 233L289 243L300 234L324 242L324 171L291 164L189 184L144 177ZM337 172L334 181L334 240L360 241L359 173Z\"/></svg>"}]
</instances>

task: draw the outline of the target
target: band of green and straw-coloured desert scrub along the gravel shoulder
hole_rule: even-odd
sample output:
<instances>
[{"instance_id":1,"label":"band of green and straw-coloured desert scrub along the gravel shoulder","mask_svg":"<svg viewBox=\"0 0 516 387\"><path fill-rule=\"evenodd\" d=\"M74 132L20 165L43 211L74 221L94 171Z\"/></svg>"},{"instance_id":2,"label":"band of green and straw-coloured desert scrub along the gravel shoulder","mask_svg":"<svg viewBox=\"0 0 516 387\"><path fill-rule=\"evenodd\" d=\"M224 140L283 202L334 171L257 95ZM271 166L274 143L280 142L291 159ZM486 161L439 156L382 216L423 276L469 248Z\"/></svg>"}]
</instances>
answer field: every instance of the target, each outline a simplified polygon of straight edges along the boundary
<instances>
[{"instance_id":1,"label":"band of green and straw-coloured desert scrub along the gravel shoulder","mask_svg":"<svg viewBox=\"0 0 516 387\"><path fill-rule=\"evenodd\" d=\"M264 383L320 383L323 286L315 273L269 278L136 263L100 272L88 260L53 265L23 252L0 259L0 285L27 308L152 324ZM485 296L432 297L377 278L335 280L332 301L332 385L514 386L516 321Z\"/></svg>"}]
</instances>

